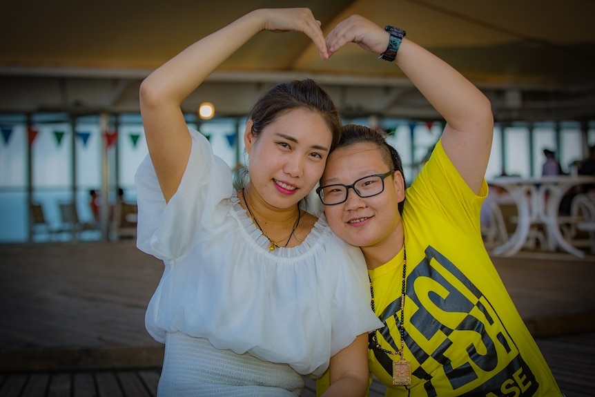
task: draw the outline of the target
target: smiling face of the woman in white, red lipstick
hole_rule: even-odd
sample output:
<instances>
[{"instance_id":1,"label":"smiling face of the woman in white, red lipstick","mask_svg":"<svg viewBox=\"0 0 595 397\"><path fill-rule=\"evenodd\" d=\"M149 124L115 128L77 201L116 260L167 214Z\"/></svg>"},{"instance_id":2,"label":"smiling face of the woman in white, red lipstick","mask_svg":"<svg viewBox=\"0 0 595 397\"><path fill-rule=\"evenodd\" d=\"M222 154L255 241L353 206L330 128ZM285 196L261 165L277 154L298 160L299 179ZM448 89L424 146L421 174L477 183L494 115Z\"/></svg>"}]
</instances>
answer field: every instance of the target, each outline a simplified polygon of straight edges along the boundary
<instances>
[{"instance_id":1,"label":"smiling face of the woman in white, red lipstick","mask_svg":"<svg viewBox=\"0 0 595 397\"><path fill-rule=\"evenodd\" d=\"M302 200L320 179L332 134L324 118L298 108L277 117L255 136L248 122L244 143L250 184L269 205L286 209Z\"/></svg>"}]
</instances>

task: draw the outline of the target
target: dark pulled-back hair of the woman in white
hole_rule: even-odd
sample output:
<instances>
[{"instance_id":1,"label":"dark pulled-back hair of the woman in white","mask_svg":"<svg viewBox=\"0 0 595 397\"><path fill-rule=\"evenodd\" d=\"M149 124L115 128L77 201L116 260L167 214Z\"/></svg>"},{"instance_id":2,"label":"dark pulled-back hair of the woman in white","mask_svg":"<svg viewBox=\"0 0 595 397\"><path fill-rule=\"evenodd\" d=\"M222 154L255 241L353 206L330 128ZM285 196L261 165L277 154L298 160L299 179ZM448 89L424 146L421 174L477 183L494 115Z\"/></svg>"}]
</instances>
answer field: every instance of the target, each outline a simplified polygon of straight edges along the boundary
<instances>
[{"instance_id":1,"label":"dark pulled-back hair of the woman in white","mask_svg":"<svg viewBox=\"0 0 595 397\"><path fill-rule=\"evenodd\" d=\"M277 118L288 113L290 110L306 109L322 116L326 125L329 126L333 139L331 151L338 144L341 138L341 120L339 111L333 100L314 80L293 80L273 86L264 93L253 106L248 114L252 120L252 133L258 137L264 127ZM238 190L246 186L248 182L248 171L246 167L236 170L234 175L234 186ZM300 205L307 209L308 196L302 199Z\"/></svg>"}]
</instances>

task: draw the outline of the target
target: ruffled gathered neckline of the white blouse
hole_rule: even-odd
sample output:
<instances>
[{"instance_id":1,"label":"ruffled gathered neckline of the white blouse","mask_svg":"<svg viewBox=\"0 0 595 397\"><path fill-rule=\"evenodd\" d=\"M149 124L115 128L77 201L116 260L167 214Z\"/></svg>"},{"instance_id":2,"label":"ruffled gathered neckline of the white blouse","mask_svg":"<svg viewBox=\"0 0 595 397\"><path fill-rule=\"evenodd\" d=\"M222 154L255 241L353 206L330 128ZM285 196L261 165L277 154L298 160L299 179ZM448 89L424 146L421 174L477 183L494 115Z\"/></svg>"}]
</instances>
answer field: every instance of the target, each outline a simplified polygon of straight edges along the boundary
<instances>
[{"instance_id":1,"label":"ruffled gathered neckline of the white blouse","mask_svg":"<svg viewBox=\"0 0 595 397\"><path fill-rule=\"evenodd\" d=\"M270 251L269 246L271 242L256 227L254 222L252 222L252 218L248 216L247 211L240 205L240 198L237 197L237 191L235 189L231 195L230 202L233 209L231 212L237 218L240 226L242 226L242 231L246 233L246 240L249 243L255 244L255 249L266 253L266 255L274 255L276 258L296 258L300 255L312 253L313 249L320 246L324 237L331 232L324 215L321 215L301 244L289 248L279 247L274 251Z\"/></svg>"}]
</instances>

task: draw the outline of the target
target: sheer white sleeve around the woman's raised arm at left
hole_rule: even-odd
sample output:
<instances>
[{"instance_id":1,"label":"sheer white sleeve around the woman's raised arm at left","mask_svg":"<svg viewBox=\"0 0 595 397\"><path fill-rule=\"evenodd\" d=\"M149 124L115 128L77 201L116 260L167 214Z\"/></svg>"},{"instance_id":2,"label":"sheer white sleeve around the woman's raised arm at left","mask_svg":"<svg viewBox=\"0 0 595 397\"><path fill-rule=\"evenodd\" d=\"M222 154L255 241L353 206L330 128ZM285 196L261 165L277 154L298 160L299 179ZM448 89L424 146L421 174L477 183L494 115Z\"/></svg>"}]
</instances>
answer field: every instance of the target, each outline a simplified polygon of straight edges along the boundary
<instances>
[{"instance_id":1,"label":"sheer white sleeve around the woman's raised arm at left","mask_svg":"<svg viewBox=\"0 0 595 397\"><path fill-rule=\"evenodd\" d=\"M233 192L231 170L213 155L204 135L188 129L192 148L176 193L166 204L149 155L137 169L137 247L162 260L184 255L189 244L201 240L217 217L226 215L225 202ZM203 233L208 238L208 233Z\"/></svg>"}]
</instances>

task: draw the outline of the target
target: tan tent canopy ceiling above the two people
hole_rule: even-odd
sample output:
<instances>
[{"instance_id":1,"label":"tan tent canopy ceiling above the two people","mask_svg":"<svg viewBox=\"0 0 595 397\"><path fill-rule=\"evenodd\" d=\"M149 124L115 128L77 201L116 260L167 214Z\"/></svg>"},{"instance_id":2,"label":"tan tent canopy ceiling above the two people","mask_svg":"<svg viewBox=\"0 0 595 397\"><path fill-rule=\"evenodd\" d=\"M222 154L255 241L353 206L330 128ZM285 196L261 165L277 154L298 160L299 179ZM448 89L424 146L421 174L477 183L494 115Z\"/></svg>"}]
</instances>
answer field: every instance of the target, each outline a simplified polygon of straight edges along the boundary
<instances>
[{"instance_id":1,"label":"tan tent canopy ceiling above the two people","mask_svg":"<svg viewBox=\"0 0 595 397\"><path fill-rule=\"evenodd\" d=\"M455 66L498 121L595 119L595 1L3 1L0 112L137 112L140 81L253 8L305 6L324 32L351 14L391 24ZM206 55L208 56L208 55ZM257 35L184 102L244 115L272 84L316 79L346 117L438 115L394 64L355 44L318 57L300 33Z\"/></svg>"}]
</instances>

